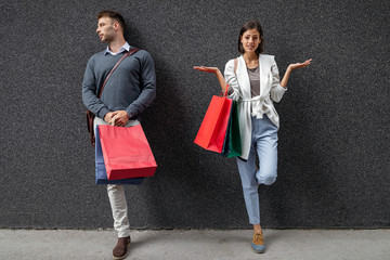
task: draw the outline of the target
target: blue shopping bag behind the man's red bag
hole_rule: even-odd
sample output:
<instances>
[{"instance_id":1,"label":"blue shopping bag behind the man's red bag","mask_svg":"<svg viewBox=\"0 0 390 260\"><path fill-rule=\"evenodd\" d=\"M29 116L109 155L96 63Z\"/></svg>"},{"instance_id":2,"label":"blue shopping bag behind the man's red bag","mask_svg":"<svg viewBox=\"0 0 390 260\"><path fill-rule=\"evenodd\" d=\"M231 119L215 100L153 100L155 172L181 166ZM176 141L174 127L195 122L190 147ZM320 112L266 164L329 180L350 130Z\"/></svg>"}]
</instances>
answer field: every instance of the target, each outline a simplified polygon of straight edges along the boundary
<instances>
[{"instance_id":1,"label":"blue shopping bag behind the man's red bag","mask_svg":"<svg viewBox=\"0 0 390 260\"><path fill-rule=\"evenodd\" d=\"M95 129L95 183L96 184L139 185L142 183L143 179L144 179L143 177L142 178L123 179L123 180L112 180L112 181L109 181L107 179L107 172L106 172L104 159L103 159L102 145L100 142L100 136L99 136L99 126L96 126L96 129Z\"/></svg>"}]
</instances>

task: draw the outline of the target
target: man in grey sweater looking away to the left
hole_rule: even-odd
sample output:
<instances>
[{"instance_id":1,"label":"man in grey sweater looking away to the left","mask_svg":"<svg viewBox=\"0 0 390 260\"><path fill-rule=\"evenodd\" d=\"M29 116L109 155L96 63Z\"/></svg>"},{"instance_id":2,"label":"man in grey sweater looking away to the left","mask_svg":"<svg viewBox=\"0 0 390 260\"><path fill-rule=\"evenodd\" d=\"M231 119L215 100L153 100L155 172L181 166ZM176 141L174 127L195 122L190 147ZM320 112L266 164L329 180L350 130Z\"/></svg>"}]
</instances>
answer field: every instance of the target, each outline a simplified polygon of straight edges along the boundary
<instances>
[{"instance_id":1,"label":"man in grey sweater looking away to the left","mask_svg":"<svg viewBox=\"0 0 390 260\"><path fill-rule=\"evenodd\" d=\"M107 49L89 60L82 81L82 101L87 108L96 115L96 125L130 127L139 123L142 112L156 96L156 75L150 53L140 50L122 60L107 80L101 99L98 99L102 84L115 64L131 48L123 37L123 17L113 11L98 14L96 32ZM123 259L130 245L128 208L121 185L107 185L113 210L114 227L118 242L113 250L114 259Z\"/></svg>"}]
</instances>

